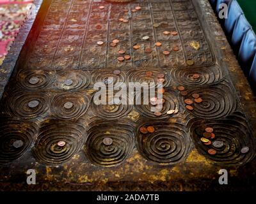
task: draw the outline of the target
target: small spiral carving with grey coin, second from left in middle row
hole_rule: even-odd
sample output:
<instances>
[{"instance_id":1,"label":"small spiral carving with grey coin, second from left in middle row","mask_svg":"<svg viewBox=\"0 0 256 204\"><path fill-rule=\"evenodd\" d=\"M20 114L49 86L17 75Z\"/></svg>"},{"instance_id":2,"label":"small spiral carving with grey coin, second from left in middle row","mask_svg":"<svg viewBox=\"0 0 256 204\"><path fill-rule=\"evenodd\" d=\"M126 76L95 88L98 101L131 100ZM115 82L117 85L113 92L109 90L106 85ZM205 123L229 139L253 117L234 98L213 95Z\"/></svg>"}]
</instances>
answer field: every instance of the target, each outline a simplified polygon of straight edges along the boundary
<instances>
[{"instance_id":1,"label":"small spiral carving with grey coin, second from left in middle row","mask_svg":"<svg viewBox=\"0 0 256 204\"><path fill-rule=\"evenodd\" d=\"M51 112L58 119L75 119L88 110L90 100L79 92L58 94L51 103Z\"/></svg>"}]
</instances>

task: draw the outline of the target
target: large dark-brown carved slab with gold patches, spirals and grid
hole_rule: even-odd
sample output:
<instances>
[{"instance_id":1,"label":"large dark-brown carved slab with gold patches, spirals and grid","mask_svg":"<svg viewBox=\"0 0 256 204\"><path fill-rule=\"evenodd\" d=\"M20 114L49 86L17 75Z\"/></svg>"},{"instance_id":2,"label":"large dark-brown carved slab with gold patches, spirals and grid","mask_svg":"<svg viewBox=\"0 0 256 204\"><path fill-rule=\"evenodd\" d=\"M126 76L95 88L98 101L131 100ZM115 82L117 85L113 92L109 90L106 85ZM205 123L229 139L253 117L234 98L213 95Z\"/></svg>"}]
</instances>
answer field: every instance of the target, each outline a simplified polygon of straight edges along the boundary
<instances>
[{"instance_id":1,"label":"large dark-brown carved slab with gold patches, spirals and grid","mask_svg":"<svg viewBox=\"0 0 256 204\"><path fill-rule=\"evenodd\" d=\"M207 0L48 4L1 99L1 190L255 189L255 99ZM93 103L96 82L159 75L161 115ZM207 127L223 147L202 142ZM36 185L26 184L29 169ZM228 185L218 184L220 169Z\"/></svg>"}]
</instances>

